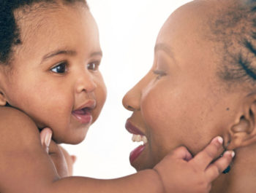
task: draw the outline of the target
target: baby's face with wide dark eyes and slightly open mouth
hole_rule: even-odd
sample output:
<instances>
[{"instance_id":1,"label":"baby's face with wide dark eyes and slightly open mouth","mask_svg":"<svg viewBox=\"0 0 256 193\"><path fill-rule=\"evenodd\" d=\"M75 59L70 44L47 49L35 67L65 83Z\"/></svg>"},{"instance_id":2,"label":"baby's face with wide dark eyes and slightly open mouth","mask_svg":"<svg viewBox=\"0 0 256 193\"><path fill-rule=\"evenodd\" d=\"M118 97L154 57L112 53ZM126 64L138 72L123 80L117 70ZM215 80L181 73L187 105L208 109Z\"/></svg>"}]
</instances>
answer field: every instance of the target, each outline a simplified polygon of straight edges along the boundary
<instances>
[{"instance_id":1,"label":"baby's face with wide dark eyes and slightly open mouth","mask_svg":"<svg viewBox=\"0 0 256 193\"><path fill-rule=\"evenodd\" d=\"M18 25L22 44L2 86L7 102L50 127L57 143L80 143L106 98L94 18L86 8L64 6L21 17Z\"/></svg>"}]
</instances>

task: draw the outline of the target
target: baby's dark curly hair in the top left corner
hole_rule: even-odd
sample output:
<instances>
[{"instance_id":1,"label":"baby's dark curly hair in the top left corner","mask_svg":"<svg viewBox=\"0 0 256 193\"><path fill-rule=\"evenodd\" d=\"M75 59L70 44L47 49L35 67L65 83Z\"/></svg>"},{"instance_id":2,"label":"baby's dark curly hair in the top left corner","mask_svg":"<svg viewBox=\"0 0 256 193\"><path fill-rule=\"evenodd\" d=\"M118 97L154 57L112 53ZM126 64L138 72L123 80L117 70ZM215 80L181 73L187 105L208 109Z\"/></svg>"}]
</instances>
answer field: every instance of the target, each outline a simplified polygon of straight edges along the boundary
<instances>
[{"instance_id":1,"label":"baby's dark curly hair in the top left corner","mask_svg":"<svg viewBox=\"0 0 256 193\"><path fill-rule=\"evenodd\" d=\"M43 8L46 4L56 7L58 4L76 2L87 7L86 0L0 0L0 63L9 63L13 47L22 44L19 26L15 20L15 10L34 4L40 4L40 8Z\"/></svg>"}]
</instances>

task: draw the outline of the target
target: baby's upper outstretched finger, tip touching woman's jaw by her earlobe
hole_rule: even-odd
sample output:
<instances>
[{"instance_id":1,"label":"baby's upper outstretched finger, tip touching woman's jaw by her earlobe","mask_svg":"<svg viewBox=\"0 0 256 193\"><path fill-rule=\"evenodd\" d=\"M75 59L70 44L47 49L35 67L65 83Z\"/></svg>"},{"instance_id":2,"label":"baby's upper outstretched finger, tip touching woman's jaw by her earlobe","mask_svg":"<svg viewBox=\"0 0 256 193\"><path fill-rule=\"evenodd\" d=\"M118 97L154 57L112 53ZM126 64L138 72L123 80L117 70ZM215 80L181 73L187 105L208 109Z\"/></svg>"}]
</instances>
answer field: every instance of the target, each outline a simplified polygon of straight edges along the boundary
<instances>
[{"instance_id":1,"label":"baby's upper outstretched finger, tip touching woman's jaw by her earlobe","mask_svg":"<svg viewBox=\"0 0 256 193\"><path fill-rule=\"evenodd\" d=\"M222 149L222 137L214 138L203 151L200 151L190 162L205 170L208 165L220 155Z\"/></svg>"}]
</instances>

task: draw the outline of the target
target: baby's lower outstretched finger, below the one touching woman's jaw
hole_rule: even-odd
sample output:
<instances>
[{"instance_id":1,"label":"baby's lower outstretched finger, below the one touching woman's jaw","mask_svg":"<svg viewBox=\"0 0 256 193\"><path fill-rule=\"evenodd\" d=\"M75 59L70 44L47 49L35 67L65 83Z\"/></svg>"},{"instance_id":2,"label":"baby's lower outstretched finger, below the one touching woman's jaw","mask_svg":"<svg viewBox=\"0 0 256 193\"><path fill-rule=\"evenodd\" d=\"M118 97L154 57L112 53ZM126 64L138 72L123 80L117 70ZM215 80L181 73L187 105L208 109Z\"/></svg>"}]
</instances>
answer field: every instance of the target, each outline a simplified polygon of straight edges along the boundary
<instances>
[{"instance_id":1,"label":"baby's lower outstretched finger, below the one touching woman's jaw","mask_svg":"<svg viewBox=\"0 0 256 193\"><path fill-rule=\"evenodd\" d=\"M206 177L209 181L214 181L219 174L221 174L230 165L233 157L235 156L234 151L226 151L222 157L217 159L206 169Z\"/></svg>"}]
</instances>

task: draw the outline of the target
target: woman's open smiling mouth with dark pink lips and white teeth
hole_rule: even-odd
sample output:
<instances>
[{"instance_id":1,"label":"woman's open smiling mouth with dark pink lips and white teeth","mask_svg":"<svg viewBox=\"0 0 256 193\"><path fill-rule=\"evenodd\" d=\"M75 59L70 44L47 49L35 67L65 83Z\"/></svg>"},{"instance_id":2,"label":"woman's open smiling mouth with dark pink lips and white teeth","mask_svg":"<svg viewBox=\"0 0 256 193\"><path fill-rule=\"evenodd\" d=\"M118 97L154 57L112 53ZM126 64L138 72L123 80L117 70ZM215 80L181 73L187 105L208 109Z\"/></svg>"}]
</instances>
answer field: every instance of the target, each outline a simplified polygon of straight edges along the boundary
<instances>
[{"instance_id":1,"label":"woman's open smiling mouth with dark pink lips and white teeth","mask_svg":"<svg viewBox=\"0 0 256 193\"><path fill-rule=\"evenodd\" d=\"M129 133L132 133L132 141L143 142L143 145L138 146L129 154L129 162L132 164L132 162L134 162L135 159L137 159L145 149L146 143L148 143L148 139L146 138L146 135L144 135L137 127L132 125L129 120L127 120L125 128L129 131Z\"/></svg>"}]
</instances>

